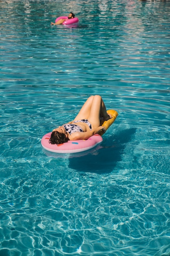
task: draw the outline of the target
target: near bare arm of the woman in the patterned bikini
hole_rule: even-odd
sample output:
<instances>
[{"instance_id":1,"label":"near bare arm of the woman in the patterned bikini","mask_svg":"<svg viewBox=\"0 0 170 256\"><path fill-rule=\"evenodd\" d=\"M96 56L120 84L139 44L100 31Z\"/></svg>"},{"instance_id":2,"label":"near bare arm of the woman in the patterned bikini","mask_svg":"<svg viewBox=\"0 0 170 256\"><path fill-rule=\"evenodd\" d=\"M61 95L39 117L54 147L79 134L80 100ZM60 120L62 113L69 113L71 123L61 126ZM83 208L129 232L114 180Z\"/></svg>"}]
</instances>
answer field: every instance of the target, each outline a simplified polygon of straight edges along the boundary
<instances>
[{"instance_id":1,"label":"near bare arm of the woman in the patterned bikini","mask_svg":"<svg viewBox=\"0 0 170 256\"><path fill-rule=\"evenodd\" d=\"M102 130L106 130L106 128L104 126L99 126L93 130L87 131L87 132L73 132L69 139L70 140L79 140L79 139L88 139L91 136L101 132Z\"/></svg>"}]
</instances>

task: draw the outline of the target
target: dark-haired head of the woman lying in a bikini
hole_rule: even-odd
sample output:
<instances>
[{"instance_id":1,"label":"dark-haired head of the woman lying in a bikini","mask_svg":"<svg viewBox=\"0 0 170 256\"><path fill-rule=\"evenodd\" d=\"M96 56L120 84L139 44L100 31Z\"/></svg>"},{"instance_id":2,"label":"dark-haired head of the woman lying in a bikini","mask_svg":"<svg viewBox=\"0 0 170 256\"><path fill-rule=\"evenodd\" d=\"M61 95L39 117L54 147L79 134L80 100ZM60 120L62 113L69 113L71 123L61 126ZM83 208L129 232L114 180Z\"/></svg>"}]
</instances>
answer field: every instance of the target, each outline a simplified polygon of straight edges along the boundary
<instances>
[{"instance_id":1,"label":"dark-haired head of the woman lying in a bikini","mask_svg":"<svg viewBox=\"0 0 170 256\"><path fill-rule=\"evenodd\" d=\"M64 129L63 126L59 126L59 128L56 128L51 133L51 138L49 139L49 143L51 144L62 144L64 142L67 142L68 135Z\"/></svg>"}]
</instances>

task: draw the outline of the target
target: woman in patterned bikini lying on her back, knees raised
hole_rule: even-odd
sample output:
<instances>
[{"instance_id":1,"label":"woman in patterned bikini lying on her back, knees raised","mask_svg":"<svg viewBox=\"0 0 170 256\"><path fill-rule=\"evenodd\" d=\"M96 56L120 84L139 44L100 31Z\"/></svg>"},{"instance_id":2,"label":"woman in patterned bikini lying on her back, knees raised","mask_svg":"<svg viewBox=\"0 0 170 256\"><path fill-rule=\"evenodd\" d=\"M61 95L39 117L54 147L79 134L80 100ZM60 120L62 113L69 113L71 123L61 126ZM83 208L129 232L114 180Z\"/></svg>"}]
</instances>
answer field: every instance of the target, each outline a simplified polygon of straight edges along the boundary
<instances>
[{"instance_id":1,"label":"woman in patterned bikini lying on her back, knees raised","mask_svg":"<svg viewBox=\"0 0 170 256\"><path fill-rule=\"evenodd\" d=\"M112 116L107 114L102 97L91 96L73 121L52 131L49 143L62 144L68 140L88 139L101 131L105 132L106 128L100 125L101 119L107 121L110 118Z\"/></svg>"}]
</instances>

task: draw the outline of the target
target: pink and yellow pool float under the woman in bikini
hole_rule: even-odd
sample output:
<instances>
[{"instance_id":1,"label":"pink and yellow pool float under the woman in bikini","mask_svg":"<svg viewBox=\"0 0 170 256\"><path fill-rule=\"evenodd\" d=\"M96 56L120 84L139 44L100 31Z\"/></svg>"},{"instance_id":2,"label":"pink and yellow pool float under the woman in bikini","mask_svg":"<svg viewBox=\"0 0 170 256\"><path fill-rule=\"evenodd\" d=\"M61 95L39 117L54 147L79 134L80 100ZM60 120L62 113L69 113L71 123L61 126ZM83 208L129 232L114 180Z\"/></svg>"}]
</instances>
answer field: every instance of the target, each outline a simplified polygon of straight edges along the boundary
<instances>
[{"instance_id":1,"label":"pink and yellow pool float under the woman in bikini","mask_svg":"<svg viewBox=\"0 0 170 256\"><path fill-rule=\"evenodd\" d=\"M116 110L108 110L108 114L112 115L107 121L101 121L101 125L106 128L106 130L110 127L111 124L115 121L118 113ZM51 137L51 133L49 132L42 137L41 145L48 151L55 152L55 153L78 153L88 149L95 147L97 144L103 141L102 135L104 131L99 134L95 134L88 139L80 139L80 140L69 140L63 144L51 144L49 143L49 139Z\"/></svg>"}]
</instances>

